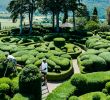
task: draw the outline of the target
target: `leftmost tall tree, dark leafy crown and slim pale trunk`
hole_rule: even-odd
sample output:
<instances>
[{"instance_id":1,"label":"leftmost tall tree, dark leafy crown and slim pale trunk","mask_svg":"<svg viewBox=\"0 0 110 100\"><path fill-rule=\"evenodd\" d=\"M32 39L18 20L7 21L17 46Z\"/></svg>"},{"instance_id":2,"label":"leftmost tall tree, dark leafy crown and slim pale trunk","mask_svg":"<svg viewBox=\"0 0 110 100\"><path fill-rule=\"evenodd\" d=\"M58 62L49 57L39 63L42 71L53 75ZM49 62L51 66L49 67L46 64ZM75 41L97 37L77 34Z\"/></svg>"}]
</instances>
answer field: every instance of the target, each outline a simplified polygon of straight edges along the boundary
<instances>
[{"instance_id":1,"label":"leftmost tall tree, dark leafy crown and slim pale trunk","mask_svg":"<svg viewBox=\"0 0 110 100\"><path fill-rule=\"evenodd\" d=\"M20 16L20 35L23 31L23 13L25 12L25 7L23 7L23 0L12 0L8 4L7 10L11 13L11 18L13 22L17 21L17 18Z\"/></svg>"}]
</instances>

